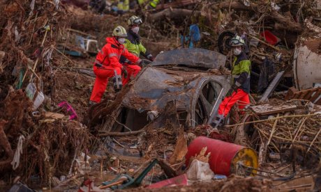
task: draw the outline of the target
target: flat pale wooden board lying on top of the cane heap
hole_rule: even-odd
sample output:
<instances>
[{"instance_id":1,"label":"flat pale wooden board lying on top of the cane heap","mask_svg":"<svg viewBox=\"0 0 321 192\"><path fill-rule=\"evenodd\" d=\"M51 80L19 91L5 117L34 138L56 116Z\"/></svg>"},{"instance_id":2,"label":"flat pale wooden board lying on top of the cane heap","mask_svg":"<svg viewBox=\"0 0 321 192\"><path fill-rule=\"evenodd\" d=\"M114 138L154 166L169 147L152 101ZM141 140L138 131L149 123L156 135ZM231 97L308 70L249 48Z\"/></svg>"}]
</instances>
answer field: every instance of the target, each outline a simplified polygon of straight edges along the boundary
<instances>
[{"instance_id":1,"label":"flat pale wooden board lying on top of the cane heap","mask_svg":"<svg viewBox=\"0 0 321 192\"><path fill-rule=\"evenodd\" d=\"M283 104L279 106L271 106L270 104L261 104L257 106L250 106L250 109L254 111L257 115L270 115L275 113L283 113L286 111L292 111L298 109L295 104Z\"/></svg>"}]
</instances>

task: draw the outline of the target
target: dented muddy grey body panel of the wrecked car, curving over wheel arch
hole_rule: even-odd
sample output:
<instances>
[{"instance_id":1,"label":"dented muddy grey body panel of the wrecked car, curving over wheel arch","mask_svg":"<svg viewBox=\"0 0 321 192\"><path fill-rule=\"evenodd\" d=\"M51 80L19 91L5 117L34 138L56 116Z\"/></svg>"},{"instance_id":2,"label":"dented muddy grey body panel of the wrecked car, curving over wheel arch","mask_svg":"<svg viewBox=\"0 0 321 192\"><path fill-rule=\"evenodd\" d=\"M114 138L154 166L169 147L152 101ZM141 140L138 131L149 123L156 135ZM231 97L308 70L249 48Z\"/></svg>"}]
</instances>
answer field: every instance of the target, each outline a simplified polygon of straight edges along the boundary
<instances>
[{"instance_id":1,"label":"dented muddy grey body panel of the wrecked car, curving over wheel arch","mask_svg":"<svg viewBox=\"0 0 321 192\"><path fill-rule=\"evenodd\" d=\"M179 68L179 67L177 67ZM122 104L139 111L161 110L167 102L176 101L177 109L190 111L197 99L202 83L217 81L227 89L227 75L216 75L204 71L170 70L161 67L145 67L122 100Z\"/></svg>"}]
</instances>

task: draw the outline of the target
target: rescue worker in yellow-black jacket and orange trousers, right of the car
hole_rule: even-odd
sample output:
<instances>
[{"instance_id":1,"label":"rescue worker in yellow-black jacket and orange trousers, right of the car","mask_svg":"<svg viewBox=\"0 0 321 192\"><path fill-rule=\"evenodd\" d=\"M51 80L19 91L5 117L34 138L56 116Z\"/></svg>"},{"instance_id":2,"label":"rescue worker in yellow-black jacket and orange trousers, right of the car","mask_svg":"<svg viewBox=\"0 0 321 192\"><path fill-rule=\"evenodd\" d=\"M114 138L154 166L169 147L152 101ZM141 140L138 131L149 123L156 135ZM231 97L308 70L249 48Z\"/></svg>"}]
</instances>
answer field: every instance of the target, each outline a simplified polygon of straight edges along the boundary
<instances>
[{"instance_id":1,"label":"rescue worker in yellow-black jacket and orange trousers, right of the car","mask_svg":"<svg viewBox=\"0 0 321 192\"><path fill-rule=\"evenodd\" d=\"M211 122L211 127L221 127L224 123L225 117L230 112L235 103L238 104L239 109L244 109L250 104L250 74L251 61L248 60L244 52L245 42L236 35L231 40L232 51L234 54L234 61L232 63L232 77L233 85L231 87L232 95L225 97L218 107L218 115L214 122Z\"/></svg>"}]
</instances>

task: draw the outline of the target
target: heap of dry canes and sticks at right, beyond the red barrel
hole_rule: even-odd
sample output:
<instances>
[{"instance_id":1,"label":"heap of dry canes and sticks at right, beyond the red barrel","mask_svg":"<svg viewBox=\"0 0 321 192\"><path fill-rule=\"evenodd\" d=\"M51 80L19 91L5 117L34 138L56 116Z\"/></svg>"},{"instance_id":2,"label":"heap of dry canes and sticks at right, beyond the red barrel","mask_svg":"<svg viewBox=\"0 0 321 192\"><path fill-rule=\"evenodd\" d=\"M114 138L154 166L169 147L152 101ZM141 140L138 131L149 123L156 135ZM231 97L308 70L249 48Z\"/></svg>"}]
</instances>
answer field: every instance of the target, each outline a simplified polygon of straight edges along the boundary
<instances>
[{"instance_id":1,"label":"heap of dry canes and sticks at right, beyond the red barrel","mask_svg":"<svg viewBox=\"0 0 321 192\"><path fill-rule=\"evenodd\" d=\"M259 151L260 163L267 161L267 157L277 160L292 159L283 157L286 151L301 146L294 157L297 163L310 167L318 164L321 152L320 141L320 106L301 101L275 101L268 104L251 106L254 132L249 138L251 146ZM273 154L273 155L271 155ZM277 157L272 157L272 156ZM301 159L299 158L301 157ZM311 167L312 168L312 167Z\"/></svg>"}]
</instances>

